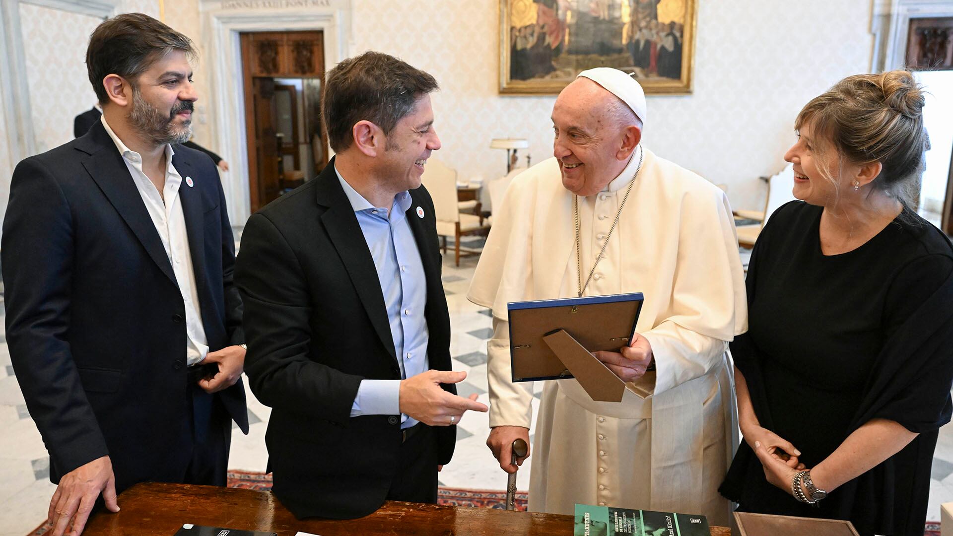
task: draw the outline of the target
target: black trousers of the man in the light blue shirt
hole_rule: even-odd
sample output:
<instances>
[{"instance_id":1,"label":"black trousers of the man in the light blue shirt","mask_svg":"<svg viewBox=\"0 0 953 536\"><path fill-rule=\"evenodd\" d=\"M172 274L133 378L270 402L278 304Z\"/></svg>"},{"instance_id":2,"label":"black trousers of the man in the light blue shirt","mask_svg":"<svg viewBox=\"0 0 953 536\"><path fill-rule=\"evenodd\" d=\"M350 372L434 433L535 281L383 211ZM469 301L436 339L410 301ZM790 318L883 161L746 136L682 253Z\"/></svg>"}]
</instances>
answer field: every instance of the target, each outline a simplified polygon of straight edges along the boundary
<instances>
[{"instance_id":1,"label":"black trousers of the man in the light blue shirt","mask_svg":"<svg viewBox=\"0 0 953 536\"><path fill-rule=\"evenodd\" d=\"M436 505L436 438L434 429L419 423L419 429L400 445L397 471L388 501Z\"/></svg>"}]
</instances>

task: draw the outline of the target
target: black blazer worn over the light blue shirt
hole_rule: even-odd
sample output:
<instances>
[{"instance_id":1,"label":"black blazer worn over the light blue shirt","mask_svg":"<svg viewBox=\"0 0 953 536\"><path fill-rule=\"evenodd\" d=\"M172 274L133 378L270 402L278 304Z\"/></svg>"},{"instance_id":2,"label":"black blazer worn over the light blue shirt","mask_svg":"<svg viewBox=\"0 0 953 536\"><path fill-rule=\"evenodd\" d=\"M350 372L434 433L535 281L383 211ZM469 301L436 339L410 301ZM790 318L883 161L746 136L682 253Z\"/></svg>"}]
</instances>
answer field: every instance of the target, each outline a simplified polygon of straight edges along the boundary
<instances>
[{"instance_id":1,"label":"black blazer worn over the light blue shirt","mask_svg":"<svg viewBox=\"0 0 953 536\"><path fill-rule=\"evenodd\" d=\"M450 370L434 203L423 187L411 196L407 219L427 278L427 355L430 368ZM245 304L249 382L274 408L265 437L274 494L299 518L373 512L394 480L400 420L352 418L351 406L362 379L399 380L400 368L374 259L334 159L249 219L235 284ZM453 385L444 389L456 394ZM456 426L435 432L446 464Z\"/></svg>"}]
</instances>

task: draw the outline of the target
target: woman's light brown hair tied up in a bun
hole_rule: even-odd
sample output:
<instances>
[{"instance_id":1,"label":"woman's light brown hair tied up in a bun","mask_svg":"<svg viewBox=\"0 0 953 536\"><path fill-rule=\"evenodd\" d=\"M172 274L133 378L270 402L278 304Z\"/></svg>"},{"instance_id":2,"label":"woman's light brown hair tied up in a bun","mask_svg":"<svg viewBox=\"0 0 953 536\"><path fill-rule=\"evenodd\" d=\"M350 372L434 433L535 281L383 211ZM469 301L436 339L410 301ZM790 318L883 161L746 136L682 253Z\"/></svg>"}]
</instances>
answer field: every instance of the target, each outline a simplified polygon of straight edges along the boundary
<instances>
[{"instance_id":1,"label":"woman's light brown hair tied up in a bun","mask_svg":"<svg viewBox=\"0 0 953 536\"><path fill-rule=\"evenodd\" d=\"M808 102L795 128L810 123L821 143L854 163L880 161L881 175L871 185L912 209L929 149L923 102L923 87L909 71L855 74Z\"/></svg>"}]
</instances>

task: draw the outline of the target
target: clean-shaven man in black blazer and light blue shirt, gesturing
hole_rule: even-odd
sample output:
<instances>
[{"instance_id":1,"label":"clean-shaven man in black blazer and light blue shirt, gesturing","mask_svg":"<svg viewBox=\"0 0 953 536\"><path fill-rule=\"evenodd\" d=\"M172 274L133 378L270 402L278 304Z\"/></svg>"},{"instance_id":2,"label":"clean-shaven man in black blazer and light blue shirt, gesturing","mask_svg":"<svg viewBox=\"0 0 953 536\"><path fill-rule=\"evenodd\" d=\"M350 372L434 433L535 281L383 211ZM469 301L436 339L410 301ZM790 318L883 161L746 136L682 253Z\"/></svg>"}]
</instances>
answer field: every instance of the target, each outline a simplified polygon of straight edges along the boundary
<instances>
[{"instance_id":1,"label":"clean-shaven man in black blazer and light blue shirt, gesturing","mask_svg":"<svg viewBox=\"0 0 953 536\"><path fill-rule=\"evenodd\" d=\"M466 374L450 371L434 203L420 186L440 148L434 90L387 54L338 64L321 98L335 158L242 235L246 370L274 408L274 494L299 518L436 503L456 423L487 410L456 396Z\"/></svg>"}]
</instances>

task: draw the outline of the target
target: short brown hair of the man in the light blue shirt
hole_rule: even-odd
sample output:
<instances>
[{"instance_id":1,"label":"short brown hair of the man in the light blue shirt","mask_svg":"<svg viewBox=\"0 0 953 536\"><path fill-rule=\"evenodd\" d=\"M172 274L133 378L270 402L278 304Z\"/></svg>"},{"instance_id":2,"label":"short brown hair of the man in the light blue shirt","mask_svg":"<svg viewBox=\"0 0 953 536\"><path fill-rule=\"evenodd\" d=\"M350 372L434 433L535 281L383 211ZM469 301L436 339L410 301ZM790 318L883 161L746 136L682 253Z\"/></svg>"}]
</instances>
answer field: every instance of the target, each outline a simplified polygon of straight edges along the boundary
<instances>
[{"instance_id":1,"label":"short brown hair of the man in the light blue shirt","mask_svg":"<svg viewBox=\"0 0 953 536\"><path fill-rule=\"evenodd\" d=\"M358 121L371 121L390 134L416 100L438 89L427 72L392 55L364 52L328 72L321 94L321 116L335 153L351 147L351 130Z\"/></svg>"}]
</instances>

